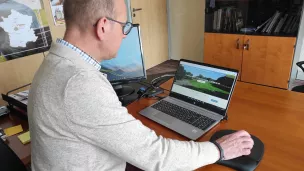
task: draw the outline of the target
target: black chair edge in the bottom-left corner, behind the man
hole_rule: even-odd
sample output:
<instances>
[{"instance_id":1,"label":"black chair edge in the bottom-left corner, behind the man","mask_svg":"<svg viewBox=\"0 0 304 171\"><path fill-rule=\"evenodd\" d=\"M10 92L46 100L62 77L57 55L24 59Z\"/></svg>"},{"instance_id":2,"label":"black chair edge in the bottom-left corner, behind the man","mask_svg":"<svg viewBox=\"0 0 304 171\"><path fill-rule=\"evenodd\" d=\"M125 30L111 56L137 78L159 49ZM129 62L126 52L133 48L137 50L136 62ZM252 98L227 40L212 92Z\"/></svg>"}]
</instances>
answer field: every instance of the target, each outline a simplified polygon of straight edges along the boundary
<instances>
[{"instance_id":1,"label":"black chair edge in the bottom-left corner, behind the man","mask_svg":"<svg viewBox=\"0 0 304 171\"><path fill-rule=\"evenodd\" d=\"M27 171L19 157L0 139L0 170Z\"/></svg>"}]
</instances>

